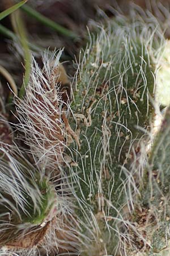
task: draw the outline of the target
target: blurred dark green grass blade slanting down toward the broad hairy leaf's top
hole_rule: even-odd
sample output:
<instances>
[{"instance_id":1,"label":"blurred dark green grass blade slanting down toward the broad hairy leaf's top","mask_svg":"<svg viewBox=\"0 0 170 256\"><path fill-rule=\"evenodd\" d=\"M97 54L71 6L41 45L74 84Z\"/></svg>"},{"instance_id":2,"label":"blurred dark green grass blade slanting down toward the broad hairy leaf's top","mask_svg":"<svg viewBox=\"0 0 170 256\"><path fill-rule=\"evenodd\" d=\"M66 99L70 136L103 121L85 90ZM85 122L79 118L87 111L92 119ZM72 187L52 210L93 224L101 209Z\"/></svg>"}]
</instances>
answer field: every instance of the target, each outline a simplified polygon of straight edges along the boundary
<instances>
[{"instance_id":1,"label":"blurred dark green grass blade slanting down toward the broad hairy leaf's top","mask_svg":"<svg viewBox=\"0 0 170 256\"><path fill-rule=\"evenodd\" d=\"M44 15L38 13L36 10L33 10L28 5L22 6L22 10L25 11L29 16L32 16L39 20L42 24L45 24L46 26L52 28L53 30L56 30L62 35L68 36L70 38L78 38L78 35L76 35L74 32L67 30L67 28L62 27L61 25L57 24L53 20L50 20L49 18L46 18Z\"/></svg>"}]
</instances>

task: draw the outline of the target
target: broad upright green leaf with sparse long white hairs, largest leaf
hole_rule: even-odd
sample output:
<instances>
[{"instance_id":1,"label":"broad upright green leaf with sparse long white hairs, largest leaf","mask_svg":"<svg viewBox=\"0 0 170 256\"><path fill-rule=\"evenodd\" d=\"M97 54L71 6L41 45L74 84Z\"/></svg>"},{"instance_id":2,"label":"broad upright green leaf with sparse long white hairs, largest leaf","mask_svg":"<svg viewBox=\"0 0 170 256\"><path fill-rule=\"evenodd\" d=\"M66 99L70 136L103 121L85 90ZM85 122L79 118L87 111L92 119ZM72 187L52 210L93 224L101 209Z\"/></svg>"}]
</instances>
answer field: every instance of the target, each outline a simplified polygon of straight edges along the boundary
<instances>
[{"instance_id":1,"label":"broad upright green leaf with sparse long white hairs, largest leaf","mask_svg":"<svg viewBox=\"0 0 170 256\"><path fill-rule=\"evenodd\" d=\"M156 72L165 43L154 26L119 16L91 39L78 64L69 123L80 147L67 145L66 172L78 236L83 235L80 255L120 254L129 239L125 230L134 229L127 215L146 164L141 148L147 147L154 122ZM142 237L137 229L135 234Z\"/></svg>"}]
</instances>

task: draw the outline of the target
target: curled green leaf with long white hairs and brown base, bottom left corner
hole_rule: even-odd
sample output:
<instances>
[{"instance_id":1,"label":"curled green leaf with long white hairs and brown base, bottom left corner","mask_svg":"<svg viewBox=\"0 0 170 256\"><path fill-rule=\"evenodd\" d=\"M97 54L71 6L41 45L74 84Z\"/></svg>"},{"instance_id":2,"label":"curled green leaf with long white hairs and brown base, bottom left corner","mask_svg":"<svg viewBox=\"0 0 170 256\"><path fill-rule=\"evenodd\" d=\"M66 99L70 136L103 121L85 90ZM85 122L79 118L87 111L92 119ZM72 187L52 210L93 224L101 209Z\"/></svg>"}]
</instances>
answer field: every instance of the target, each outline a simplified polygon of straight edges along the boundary
<instances>
[{"instance_id":1,"label":"curled green leaf with long white hairs and brown base, bottom left corner","mask_svg":"<svg viewBox=\"0 0 170 256\"><path fill-rule=\"evenodd\" d=\"M32 249L42 242L57 210L54 186L16 146L2 143L0 170L0 253Z\"/></svg>"}]
</instances>

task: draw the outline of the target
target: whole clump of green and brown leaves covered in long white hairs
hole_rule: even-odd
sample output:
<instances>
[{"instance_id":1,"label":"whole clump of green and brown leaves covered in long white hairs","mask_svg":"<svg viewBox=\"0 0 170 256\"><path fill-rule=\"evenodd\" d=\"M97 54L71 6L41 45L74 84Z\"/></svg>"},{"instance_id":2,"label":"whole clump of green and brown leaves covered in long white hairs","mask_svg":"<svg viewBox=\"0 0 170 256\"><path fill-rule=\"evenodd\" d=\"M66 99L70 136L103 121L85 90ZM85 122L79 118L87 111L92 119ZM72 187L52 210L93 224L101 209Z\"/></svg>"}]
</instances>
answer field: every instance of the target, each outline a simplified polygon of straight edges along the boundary
<instances>
[{"instance_id":1,"label":"whole clump of green and brown leaves covered in long white hairs","mask_svg":"<svg viewBox=\"0 0 170 256\"><path fill-rule=\"evenodd\" d=\"M73 89L62 51L32 57L22 147L1 143L0 255L169 253L169 44L147 14L96 30Z\"/></svg>"}]
</instances>

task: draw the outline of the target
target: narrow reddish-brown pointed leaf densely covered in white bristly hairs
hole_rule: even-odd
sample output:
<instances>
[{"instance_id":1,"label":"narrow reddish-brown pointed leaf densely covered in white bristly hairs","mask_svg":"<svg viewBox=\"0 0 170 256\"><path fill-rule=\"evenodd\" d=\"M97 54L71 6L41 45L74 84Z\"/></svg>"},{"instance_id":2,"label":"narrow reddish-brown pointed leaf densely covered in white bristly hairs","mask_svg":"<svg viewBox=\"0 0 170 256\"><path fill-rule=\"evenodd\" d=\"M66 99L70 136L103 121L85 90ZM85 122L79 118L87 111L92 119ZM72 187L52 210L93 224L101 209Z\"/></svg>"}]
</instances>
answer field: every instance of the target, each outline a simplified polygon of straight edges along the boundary
<instances>
[{"instance_id":1,"label":"narrow reddish-brown pointed leaf densely covered in white bristly hairs","mask_svg":"<svg viewBox=\"0 0 170 256\"><path fill-rule=\"evenodd\" d=\"M67 110L63 109L66 102L62 101L62 93L59 92L61 54L62 51L59 51L49 56L46 51L42 56L42 69L33 59L26 95L22 102L17 103L19 129L24 132L25 144L29 146L37 166L41 166L46 174L59 169L66 141L62 118L63 113L67 114Z\"/></svg>"}]
</instances>

